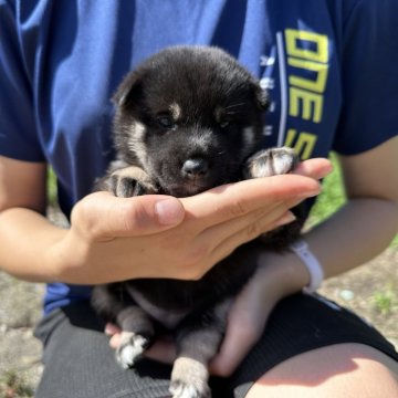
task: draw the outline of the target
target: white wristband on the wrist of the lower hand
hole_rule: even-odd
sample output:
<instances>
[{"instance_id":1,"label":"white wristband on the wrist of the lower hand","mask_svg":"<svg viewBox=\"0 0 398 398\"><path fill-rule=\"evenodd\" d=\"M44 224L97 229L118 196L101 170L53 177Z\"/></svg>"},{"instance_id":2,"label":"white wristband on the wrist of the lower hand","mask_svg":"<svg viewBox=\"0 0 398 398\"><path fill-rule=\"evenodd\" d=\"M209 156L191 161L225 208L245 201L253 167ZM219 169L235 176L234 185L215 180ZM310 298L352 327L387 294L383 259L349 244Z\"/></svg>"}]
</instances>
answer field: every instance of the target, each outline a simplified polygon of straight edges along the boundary
<instances>
[{"instance_id":1,"label":"white wristband on the wrist of the lower hand","mask_svg":"<svg viewBox=\"0 0 398 398\"><path fill-rule=\"evenodd\" d=\"M316 256L310 251L308 244L303 240L297 240L290 245L290 250L295 253L304 263L310 273L310 283L303 287L304 293L314 293L322 284L324 272Z\"/></svg>"}]
</instances>

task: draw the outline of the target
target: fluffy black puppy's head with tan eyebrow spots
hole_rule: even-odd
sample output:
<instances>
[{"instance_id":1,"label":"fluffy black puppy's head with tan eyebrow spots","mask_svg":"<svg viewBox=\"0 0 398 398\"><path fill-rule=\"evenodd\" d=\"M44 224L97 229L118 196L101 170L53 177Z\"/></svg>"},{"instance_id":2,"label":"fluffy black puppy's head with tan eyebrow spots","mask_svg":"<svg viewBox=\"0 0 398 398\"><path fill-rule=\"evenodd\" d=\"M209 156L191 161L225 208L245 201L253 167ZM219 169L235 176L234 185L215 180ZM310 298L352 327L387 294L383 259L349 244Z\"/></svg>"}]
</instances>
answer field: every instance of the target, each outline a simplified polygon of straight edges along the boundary
<instances>
[{"instance_id":1,"label":"fluffy black puppy's head with tan eyebrow spots","mask_svg":"<svg viewBox=\"0 0 398 398\"><path fill-rule=\"evenodd\" d=\"M151 56L125 77L114 102L119 156L178 197L240 178L268 106L258 81L234 59L200 46Z\"/></svg>"}]
</instances>

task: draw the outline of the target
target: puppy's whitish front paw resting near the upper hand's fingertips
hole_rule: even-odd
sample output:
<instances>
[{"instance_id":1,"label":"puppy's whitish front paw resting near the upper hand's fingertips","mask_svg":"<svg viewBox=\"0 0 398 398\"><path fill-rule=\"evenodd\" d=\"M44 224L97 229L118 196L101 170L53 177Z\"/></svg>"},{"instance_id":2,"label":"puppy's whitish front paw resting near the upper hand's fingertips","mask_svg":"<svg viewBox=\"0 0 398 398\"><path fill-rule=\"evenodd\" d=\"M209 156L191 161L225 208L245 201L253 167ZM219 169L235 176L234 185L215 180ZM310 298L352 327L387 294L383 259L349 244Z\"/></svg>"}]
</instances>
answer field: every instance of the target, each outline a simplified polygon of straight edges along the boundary
<instances>
[{"instance_id":1,"label":"puppy's whitish front paw resting near the upper hand's fingertips","mask_svg":"<svg viewBox=\"0 0 398 398\"><path fill-rule=\"evenodd\" d=\"M245 165L245 178L271 177L287 174L298 164L294 149L289 147L260 150L249 158Z\"/></svg>"}]
</instances>

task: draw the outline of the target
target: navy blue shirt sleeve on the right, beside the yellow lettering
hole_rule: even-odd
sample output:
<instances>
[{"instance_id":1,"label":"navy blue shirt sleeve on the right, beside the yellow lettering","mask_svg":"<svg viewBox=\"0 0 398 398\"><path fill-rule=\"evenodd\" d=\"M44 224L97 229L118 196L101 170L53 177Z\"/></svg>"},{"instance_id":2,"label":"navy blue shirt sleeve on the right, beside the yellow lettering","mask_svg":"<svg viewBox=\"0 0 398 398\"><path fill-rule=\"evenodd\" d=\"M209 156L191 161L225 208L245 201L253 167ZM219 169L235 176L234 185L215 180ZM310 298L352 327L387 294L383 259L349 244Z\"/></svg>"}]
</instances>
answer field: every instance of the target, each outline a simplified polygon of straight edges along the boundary
<instances>
[{"instance_id":1,"label":"navy blue shirt sleeve on the right, beside the yellow lettering","mask_svg":"<svg viewBox=\"0 0 398 398\"><path fill-rule=\"evenodd\" d=\"M398 1L359 0L343 27L343 108L334 149L355 155L398 133Z\"/></svg>"}]
</instances>

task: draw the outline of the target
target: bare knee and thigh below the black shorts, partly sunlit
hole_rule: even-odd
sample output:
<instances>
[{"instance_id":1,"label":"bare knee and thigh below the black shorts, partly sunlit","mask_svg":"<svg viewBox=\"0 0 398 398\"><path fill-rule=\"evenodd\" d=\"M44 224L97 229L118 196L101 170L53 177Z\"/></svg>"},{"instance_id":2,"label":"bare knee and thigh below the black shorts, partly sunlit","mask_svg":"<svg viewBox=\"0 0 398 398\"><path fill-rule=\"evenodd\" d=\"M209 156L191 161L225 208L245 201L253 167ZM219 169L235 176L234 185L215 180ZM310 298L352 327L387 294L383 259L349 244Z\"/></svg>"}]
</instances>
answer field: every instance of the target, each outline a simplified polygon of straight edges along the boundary
<instances>
[{"instance_id":1,"label":"bare knee and thigh below the black shorts, partly sunlit","mask_svg":"<svg viewBox=\"0 0 398 398\"><path fill-rule=\"evenodd\" d=\"M253 385L247 397L395 398L398 363L360 344L328 346L277 365Z\"/></svg>"}]
</instances>

